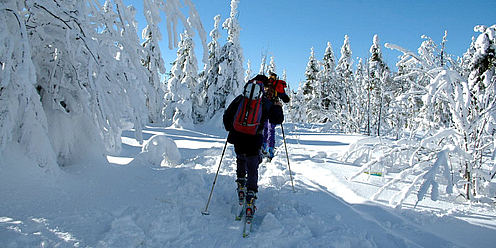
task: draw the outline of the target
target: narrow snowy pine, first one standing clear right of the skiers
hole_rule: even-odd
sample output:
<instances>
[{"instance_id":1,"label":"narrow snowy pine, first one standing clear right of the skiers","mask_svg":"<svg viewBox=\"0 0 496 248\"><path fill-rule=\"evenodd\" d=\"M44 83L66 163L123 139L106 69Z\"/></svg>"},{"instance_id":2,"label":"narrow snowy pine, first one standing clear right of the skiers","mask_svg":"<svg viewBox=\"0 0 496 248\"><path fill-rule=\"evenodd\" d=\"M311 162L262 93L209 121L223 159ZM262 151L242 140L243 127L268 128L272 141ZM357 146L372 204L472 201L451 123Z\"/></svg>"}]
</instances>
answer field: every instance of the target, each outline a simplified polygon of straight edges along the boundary
<instances>
[{"instance_id":1,"label":"narrow snowy pine, first one standing clear right of the skiers","mask_svg":"<svg viewBox=\"0 0 496 248\"><path fill-rule=\"evenodd\" d=\"M306 105L306 119L310 122L320 121L321 116L321 100L320 100L320 82L319 61L315 59L313 47L310 49L310 57L308 58L307 68L305 70L305 81L301 87L303 98Z\"/></svg>"}]
</instances>

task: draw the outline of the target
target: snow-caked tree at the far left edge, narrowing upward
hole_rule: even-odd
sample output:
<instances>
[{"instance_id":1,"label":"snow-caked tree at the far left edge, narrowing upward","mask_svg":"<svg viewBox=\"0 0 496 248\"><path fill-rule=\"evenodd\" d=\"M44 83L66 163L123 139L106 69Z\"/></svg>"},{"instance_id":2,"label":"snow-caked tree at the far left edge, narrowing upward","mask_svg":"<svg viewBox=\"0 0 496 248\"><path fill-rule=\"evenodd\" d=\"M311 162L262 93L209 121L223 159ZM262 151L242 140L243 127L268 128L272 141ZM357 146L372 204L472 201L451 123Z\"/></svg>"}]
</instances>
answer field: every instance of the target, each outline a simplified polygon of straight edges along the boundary
<instances>
[{"instance_id":1,"label":"snow-caked tree at the far left edge, narrowing upward","mask_svg":"<svg viewBox=\"0 0 496 248\"><path fill-rule=\"evenodd\" d=\"M15 0L0 3L0 157L5 158L12 147L39 168L54 171L56 154L36 88L28 31L17 7Z\"/></svg>"}]
</instances>

